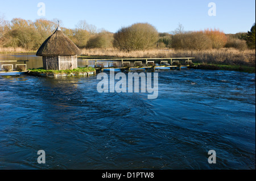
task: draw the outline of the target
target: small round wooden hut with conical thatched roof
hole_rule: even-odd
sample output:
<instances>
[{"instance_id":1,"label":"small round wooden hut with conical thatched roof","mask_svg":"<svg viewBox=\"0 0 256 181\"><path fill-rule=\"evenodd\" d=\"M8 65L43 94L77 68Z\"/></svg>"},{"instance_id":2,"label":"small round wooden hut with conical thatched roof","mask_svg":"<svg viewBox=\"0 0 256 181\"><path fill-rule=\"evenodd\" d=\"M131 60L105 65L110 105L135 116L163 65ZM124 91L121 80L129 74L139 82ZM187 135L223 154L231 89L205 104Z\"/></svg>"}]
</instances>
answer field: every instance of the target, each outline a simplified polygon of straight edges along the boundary
<instances>
[{"instance_id":1,"label":"small round wooden hut with conical thatched roof","mask_svg":"<svg viewBox=\"0 0 256 181\"><path fill-rule=\"evenodd\" d=\"M57 27L36 52L43 56L43 68L46 70L66 70L77 68L79 48Z\"/></svg>"}]
</instances>

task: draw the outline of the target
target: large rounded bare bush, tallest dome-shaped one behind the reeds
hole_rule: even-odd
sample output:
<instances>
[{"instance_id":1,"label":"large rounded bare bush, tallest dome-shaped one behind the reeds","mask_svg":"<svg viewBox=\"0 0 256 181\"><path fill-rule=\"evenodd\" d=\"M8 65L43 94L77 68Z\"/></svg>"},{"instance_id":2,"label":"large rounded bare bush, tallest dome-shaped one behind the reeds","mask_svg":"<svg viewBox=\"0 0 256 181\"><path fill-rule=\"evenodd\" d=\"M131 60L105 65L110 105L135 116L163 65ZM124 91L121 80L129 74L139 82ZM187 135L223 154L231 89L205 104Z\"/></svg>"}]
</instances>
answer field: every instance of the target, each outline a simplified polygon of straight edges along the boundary
<instances>
[{"instance_id":1,"label":"large rounded bare bush, tallest dome-shaped one behind the reeds","mask_svg":"<svg viewBox=\"0 0 256 181\"><path fill-rule=\"evenodd\" d=\"M114 33L113 45L115 48L130 52L155 48L157 41L158 31L155 27L148 23L137 23Z\"/></svg>"}]
</instances>

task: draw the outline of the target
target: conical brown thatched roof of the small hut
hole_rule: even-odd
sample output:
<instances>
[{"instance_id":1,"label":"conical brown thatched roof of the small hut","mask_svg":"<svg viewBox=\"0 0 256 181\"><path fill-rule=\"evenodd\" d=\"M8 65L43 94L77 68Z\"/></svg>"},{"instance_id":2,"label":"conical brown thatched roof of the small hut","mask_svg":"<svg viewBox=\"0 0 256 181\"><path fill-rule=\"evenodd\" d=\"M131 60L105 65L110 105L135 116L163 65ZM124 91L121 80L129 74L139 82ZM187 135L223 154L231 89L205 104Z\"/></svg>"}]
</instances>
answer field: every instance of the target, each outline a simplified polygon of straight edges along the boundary
<instances>
[{"instance_id":1,"label":"conical brown thatched roof of the small hut","mask_svg":"<svg viewBox=\"0 0 256 181\"><path fill-rule=\"evenodd\" d=\"M36 52L36 56L71 56L81 54L81 50L58 27Z\"/></svg>"}]
</instances>

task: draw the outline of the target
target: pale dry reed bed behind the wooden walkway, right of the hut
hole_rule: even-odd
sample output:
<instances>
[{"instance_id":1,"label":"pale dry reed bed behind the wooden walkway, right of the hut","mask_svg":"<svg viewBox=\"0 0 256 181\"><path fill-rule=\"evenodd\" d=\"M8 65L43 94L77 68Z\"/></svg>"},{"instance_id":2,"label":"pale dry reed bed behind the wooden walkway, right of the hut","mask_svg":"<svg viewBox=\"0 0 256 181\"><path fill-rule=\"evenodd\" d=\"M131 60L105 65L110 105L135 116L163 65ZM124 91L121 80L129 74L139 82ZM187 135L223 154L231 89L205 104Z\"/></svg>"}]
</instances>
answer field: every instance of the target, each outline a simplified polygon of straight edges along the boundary
<instances>
[{"instance_id":1,"label":"pale dry reed bed behind the wooden walkway, right of the hut","mask_svg":"<svg viewBox=\"0 0 256 181\"><path fill-rule=\"evenodd\" d=\"M237 50L232 48L211 50L143 50L121 52L118 49L82 49L85 56L109 56L122 58L168 58L168 57L195 57L195 62L208 64L228 65L255 65L255 50Z\"/></svg>"}]
</instances>

